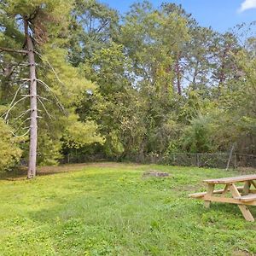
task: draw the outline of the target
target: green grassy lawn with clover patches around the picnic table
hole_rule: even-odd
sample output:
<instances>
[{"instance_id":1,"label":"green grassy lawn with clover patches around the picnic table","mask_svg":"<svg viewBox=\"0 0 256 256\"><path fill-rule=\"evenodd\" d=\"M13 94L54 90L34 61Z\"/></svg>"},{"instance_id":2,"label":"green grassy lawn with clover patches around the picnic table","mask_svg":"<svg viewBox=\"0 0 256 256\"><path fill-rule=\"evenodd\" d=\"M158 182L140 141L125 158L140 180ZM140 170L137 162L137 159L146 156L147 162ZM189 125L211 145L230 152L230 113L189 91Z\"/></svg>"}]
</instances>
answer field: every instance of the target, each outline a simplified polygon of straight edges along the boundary
<instances>
[{"instance_id":1,"label":"green grassy lawn with clover patches around the picnic table","mask_svg":"<svg viewBox=\"0 0 256 256\"><path fill-rule=\"evenodd\" d=\"M203 190L202 179L237 172L114 163L77 169L0 180L0 255L256 255L256 223L236 205L205 209L188 198ZM171 177L142 178L150 169Z\"/></svg>"}]
</instances>

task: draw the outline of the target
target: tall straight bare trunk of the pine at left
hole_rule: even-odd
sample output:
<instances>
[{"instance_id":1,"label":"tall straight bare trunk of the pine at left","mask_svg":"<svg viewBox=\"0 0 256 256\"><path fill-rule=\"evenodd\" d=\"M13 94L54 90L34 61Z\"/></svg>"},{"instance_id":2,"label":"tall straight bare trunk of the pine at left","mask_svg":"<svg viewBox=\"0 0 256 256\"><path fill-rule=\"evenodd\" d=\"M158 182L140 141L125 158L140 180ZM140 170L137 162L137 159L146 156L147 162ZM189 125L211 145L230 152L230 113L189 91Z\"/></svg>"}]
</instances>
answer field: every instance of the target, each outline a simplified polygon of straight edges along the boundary
<instances>
[{"instance_id":1,"label":"tall straight bare trunk of the pine at left","mask_svg":"<svg viewBox=\"0 0 256 256\"><path fill-rule=\"evenodd\" d=\"M29 143L29 159L27 178L36 176L37 166L37 143L38 143L38 99L37 99L37 76L36 63L33 49L32 38L28 32L28 23L24 19L25 33L26 33L26 49L28 50L29 62L29 78L30 78L30 143Z\"/></svg>"}]
</instances>

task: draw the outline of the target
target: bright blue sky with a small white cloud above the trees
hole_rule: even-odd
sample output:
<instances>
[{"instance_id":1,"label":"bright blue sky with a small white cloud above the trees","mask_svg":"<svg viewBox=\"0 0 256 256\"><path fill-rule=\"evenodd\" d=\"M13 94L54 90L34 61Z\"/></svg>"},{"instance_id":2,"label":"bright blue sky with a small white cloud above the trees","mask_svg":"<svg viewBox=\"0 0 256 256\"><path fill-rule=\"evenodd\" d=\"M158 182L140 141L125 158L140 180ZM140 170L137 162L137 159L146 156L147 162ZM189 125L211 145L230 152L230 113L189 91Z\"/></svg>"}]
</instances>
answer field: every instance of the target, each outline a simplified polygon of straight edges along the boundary
<instances>
[{"instance_id":1,"label":"bright blue sky with a small white cloud above the trees","mask_svg":"<svg viewBox=\"0 0 256 256\"><path fill-rule=\"evenodd\" d=\"M129 10L133 0L99 0L109 7L118 9L120 14ZM141 2L141 1L139 1ZM201 26L212 26L218 32L226 32L242 22L256 20L256 0L149 0L155 7L162 2L177 3L192 14Z\"/></svg>"}]
</instances>

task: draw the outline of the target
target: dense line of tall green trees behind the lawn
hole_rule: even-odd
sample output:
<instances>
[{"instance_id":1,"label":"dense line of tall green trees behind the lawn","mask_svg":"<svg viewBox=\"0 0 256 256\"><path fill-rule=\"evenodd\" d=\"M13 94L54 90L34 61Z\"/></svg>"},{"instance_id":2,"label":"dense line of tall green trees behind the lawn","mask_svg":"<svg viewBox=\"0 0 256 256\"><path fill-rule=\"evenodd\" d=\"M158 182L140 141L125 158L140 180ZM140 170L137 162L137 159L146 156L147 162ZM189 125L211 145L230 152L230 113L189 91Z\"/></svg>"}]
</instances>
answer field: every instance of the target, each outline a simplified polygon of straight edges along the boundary
<instances>
[{"instance_id":1,"label":"dense line of tall green trees behind the lawn","mask_svg":"<svg viewBox=\"0 0 256 256\"><path fill-rule=\"evenodd\" d=\"M65 154L256 154L255 22L202 27L180 5L0 1L0 169Z\"/></svg>"}]
</instances>

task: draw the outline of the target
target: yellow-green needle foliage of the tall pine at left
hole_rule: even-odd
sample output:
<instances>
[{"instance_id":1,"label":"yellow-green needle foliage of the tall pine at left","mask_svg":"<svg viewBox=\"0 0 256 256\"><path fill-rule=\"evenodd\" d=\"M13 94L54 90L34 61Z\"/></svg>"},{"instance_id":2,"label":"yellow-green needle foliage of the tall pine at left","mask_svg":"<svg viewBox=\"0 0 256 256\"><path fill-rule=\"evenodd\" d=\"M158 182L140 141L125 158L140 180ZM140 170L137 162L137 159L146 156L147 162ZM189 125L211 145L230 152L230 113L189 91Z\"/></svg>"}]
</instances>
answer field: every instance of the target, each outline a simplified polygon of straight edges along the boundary
<instances>
[{"instance_id":1,"label":"yellow-green needle foliage of the tall pine at left","mask_svg":"<svg viewBox=\"0 0 256 256\"><path fill-rule=\"evenodd\" d=\"M97 125L93 121L79 122L79 116L75 114L84 95L93 93L96 85L84 79L81 68L72 67L67 62L65 47L72 4L73 1L64 0L8 0L0 14L0 46L13 49L26 46L24 19L35 44L39 112L38 163L41 165L57 163L61 158L61 140L64 137L71 148L103 142L96 132ZM26 82L20 85L22 81L28 80L27 63L23 55L13 52L1 52L0 58L3 69L1 104L3 102L5 108L9 108L9 102L16 93L17 99L20 94L29 93ZM28 126L28 113L29 101L24 101L12 110L9 123L15 130L22 131Z\"/></svg>"}]
</instances>

